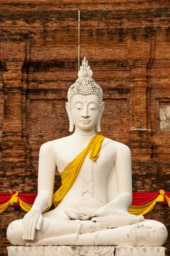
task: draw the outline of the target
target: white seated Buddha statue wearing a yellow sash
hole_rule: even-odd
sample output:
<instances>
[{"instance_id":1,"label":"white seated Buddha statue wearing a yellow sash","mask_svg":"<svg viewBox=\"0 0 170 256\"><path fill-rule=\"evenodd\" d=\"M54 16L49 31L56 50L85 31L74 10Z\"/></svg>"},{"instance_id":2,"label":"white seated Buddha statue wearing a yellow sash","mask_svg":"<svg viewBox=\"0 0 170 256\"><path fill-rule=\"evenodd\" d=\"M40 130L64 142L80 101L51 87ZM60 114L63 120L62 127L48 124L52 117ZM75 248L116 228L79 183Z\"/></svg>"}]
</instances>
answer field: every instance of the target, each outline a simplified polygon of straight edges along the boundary
<instances>
[{"instance_id":1,"label":"white seated Buddha statue wearing a yellow sash","mask_svg":"<svg viewBox=\"0 0 170 256\"><path fill-rule=\"evenodd\" d=\"M74 132L41 146L38 195L31 211L10 223L7 238L13 245L161 246L166 241L161 222L128 214L131 151L96 134L104 102L92 75L84 59L66 102ZM53 195L56 167L63 183ZM52 201L56 208L43 213Z\"/></svg>"}]
</instances>

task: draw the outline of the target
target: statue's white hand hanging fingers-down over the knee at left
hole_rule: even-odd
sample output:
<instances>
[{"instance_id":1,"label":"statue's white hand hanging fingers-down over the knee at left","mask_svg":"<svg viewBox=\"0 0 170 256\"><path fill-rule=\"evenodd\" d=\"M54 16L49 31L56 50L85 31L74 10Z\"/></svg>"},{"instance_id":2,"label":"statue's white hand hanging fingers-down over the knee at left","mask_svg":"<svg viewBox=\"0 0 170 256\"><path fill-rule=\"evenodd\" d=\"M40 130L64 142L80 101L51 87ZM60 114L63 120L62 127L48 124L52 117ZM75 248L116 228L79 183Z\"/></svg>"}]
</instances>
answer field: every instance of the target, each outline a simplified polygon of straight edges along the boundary
<instances>
[{"instance_id":1,"label":"statue's white hand hanging fingers-down over the knee at left","mask_svg":"<svg viewBox=\"0 0 170 256\"><path fill-rule=\"evenodd\" d=\"M36 230L42 226L42 213L39 210L32 209L23 217L23 239L34 240Z\"/></svg>"}]
</instances>

